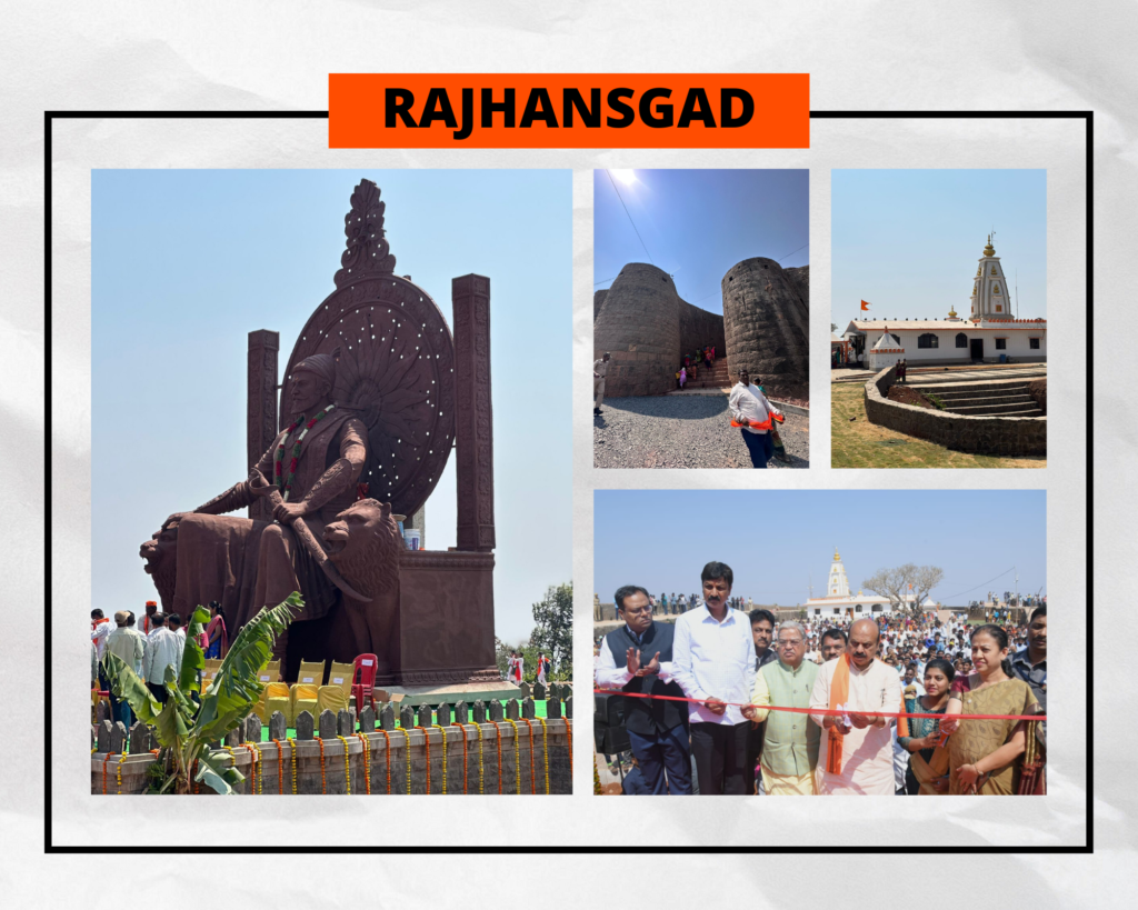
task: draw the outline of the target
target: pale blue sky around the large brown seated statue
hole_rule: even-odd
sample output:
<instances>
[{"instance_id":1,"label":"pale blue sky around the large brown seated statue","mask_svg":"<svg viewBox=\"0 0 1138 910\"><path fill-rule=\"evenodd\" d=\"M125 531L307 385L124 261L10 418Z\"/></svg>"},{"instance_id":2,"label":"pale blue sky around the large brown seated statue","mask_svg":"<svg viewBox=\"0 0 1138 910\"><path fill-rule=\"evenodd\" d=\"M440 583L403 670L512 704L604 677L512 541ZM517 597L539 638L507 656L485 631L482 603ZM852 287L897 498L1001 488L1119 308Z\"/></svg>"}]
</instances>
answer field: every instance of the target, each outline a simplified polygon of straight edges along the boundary
<instances>
[{"instance_id":1,"label":"pale blue sky around the large brown seated statue","mask_svg":"<svg viewBox=\"0 0 1138 910\"><path fill-rule=\"evenodd\" d=\"M247 333L281 333L280 370L332 291L344 215L379 184L396 273L451 318L451 279L490 278L496 624L570 579L570 171L92 172L94 606L155 596L139 545L248 472ZM563 419L539 433L535 407ZM452 457L427 504L427 545L455 538Z\"/></svg>"}]
</instances>

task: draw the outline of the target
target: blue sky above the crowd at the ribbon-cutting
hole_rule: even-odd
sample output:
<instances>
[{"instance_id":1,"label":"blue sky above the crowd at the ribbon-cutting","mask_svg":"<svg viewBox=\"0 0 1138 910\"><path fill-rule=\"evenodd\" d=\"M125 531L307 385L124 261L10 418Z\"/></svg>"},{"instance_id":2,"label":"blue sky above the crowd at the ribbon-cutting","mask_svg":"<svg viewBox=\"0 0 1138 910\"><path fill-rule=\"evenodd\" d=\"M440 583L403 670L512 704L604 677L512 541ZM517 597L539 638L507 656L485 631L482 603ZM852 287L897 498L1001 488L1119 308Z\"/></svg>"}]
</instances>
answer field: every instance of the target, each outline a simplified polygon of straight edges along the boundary
<instances>
[{"instance_id":1,"label":"blue sky above the crowd at the ribbon-cutting","mask_svg":"<svg viewBox=\"0 0 1138 910\"><path fill-rule=\"evenodd\" d=\"M597 490L594 522L604 603L621 585L699 593L717 560L735 572L733 594L791 606L811 580L825 594L834 547L855 590L913 562L945 570L932 596L950 606L1014 590L1013 566L1021 594L1047 593L1041 490Z\"/></svg>"}]
</instances>

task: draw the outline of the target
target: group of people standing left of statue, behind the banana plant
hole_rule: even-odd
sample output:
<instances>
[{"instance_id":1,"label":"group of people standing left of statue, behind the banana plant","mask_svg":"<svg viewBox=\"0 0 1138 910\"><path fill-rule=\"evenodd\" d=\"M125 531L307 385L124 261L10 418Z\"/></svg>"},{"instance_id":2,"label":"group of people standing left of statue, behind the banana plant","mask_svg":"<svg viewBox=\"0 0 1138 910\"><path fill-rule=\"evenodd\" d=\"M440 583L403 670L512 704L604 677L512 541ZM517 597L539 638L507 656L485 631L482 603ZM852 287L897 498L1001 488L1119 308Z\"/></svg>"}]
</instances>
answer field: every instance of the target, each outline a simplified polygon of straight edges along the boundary
<instances>
[{"instance_id":1,"label":"group of people standing left of statue, behind the banana plant","mask_svg":"<svg viewBox=\"0 0 1138 910\"><path fill-rule=\"evenodd\" d=\"M216 601L209 603L209 622L198 635L198 644L207 659L224 657L229 651L225 614ZM127 728L134 722L134 715L130 704L116 698L110 689L102 667L106 655L114 654L123 661L146 682L155 701L165 704L168 697L164 685L166 668L173 667L176 673L182 667L184 652L182 617L160 612L155 601L146 603L141 630L130 610L115 613L113 626L101 610L91 611L91 688L98 687L108 693L112 719L122 721Z\"/></svg>"}]
</instances>

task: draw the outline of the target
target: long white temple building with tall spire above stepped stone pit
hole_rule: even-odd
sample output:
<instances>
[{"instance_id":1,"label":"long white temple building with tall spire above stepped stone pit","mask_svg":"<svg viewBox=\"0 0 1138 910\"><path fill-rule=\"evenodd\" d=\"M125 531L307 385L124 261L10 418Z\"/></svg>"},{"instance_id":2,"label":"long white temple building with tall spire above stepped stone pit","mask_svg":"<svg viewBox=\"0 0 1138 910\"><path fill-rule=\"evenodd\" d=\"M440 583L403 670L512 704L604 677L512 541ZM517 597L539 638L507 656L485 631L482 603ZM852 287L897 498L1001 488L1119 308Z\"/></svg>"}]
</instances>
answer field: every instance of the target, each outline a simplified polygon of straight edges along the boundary
<instances>
[{"instance_id":1,"label":"long white temple building with tall spire above stepped stone pit","mask_svg":"<svg viewBox=\"0 0 1138 910\"><path fill-rule=\"evenodd\" d=\"M873 370L902 358L914 366L1047 361L1047 320L1015 317L990 235L972 278L968 308L967 318L953 307L943 320L853 320L843 337L864 339L864 356Z\"/></svg>"}]
</instances>

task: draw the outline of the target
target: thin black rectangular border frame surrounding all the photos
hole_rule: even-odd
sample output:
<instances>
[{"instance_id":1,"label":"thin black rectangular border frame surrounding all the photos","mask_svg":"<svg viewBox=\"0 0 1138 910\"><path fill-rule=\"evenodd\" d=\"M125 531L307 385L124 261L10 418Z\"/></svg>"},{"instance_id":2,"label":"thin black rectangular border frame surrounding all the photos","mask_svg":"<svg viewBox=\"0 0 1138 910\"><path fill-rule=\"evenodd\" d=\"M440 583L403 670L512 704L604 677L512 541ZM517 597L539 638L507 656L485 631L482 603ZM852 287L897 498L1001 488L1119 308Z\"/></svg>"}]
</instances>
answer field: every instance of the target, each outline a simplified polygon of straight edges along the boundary
<instances>
[{"instance_id":1,"label":"thin black rectangular border frame surrounding all the photos","mask_svg":"<svg viewBox=\"0 0 1138 910\"><path fill-rule=\"evenodd\" d=\"M48 344L44 346L43 372L46 386L44 410L47 425L52 425L51 405L51 124L56 119L328 119L327 110L44 110L43 111L43 308L44 308L44 336ZM1087 167L1087 314L1086 322L1091 326L1087 338L1087 404L1086 404L1086 447L1087 447L1087 486L1085 498L1087 502L1087 626L1094 627L1094 586L1095 576L1089 571L1095 562L1095 461L1094 461L1094 436L1095 436L1095 336L1094 336L1094 311L1095 311L1095 111L1094 110L811 110L810 119L1081 119L1086 123L1086 167ZM44 463L47 468L47 482L44 483L44 545L48 554L51 548L51 433L44 438ZM44 620L50 631L51 629L51 563L49 559L44 563ZM1095 675L1090 662L1086 662L1086 717L1094 714L1095 700ZM52 654L51 635L48 635L47 647L44 648L44 705L46 713L51 710L53 697L52 684ZM1092 725L1090 725L1092 726ZM49 737L43 754L43 852L66 853L66 854L102 854L107 846L57 846L51 842L51 760L52 741ZM1087 843L1082 846L998 846L993 844L978 844L975 846L939 846L937 852L941 854L959 853L1094 853L1095 852L1095 743L1091 736L1087 737ZM215 846L211 853L490 853L501 852L502 847L494 846L438 846L438 845L415 845L415 846L323 846L323 845L288 845L288 846ZM550 847L542 846L514 846L510 847L514 853L547 853ZM589 846L563 846L559 847L564 853L595 853L597 847ZM905 846L861 846L851 845L823 845L823 846L784 846L784 847L727 847L718 845L686 846L685 853L871 853L871 854L896 854L896 853L925 853L926 847Z\"/></svg>"}]
</instances>

